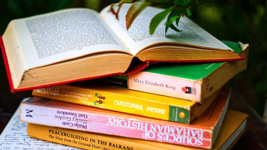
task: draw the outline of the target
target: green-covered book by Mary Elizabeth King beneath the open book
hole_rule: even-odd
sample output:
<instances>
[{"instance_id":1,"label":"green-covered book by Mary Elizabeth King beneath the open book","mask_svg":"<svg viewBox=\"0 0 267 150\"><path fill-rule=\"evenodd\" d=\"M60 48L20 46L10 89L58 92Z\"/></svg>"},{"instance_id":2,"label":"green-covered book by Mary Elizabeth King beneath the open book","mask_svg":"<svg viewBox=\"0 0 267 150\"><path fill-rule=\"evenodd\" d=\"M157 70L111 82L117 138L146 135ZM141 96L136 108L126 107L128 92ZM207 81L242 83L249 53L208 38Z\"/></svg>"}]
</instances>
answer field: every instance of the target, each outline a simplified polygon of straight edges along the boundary
<instances>
[{"instance_id":1,"label":"green-covered book by Mary Elizabeth King beneath the open book","mask_svg":"<svg viewBox=\"0 0 267 150\"><path fill-rule=\"evenodd\" d=\"M224 41L248 58L248 44ZM201 103L236 74L246 70L247 59L233 62L151 64L127 76L93 79L93 82Z\"/></svg>"}]
</instances>

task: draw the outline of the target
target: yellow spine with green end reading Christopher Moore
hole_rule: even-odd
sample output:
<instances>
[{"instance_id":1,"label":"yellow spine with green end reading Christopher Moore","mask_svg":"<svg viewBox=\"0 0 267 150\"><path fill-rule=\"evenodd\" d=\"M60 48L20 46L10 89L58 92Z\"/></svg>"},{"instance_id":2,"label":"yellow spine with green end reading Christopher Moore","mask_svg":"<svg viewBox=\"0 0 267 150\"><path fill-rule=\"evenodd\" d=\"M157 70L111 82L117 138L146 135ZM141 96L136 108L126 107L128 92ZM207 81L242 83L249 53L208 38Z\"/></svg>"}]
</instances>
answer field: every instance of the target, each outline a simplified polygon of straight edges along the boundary
<instances>
[{"instance_id":1,"label":"yellow spine with green end reading Christopher Moore","mask_svg":"<svg viewBox=\"0 0 267 150\"><path fill-rule=\"evenodd\" d=\"M93 88L57 85L35 89L32 95L173 122L188 124L191 121L190 119L193 119L190 117L190 107L187 105L186 107L179 107L178 105L169 105L160 101L150 101L142 97ZM181 112L184 114L183 117L179 117Z\"/></svg>"}]
</instances>

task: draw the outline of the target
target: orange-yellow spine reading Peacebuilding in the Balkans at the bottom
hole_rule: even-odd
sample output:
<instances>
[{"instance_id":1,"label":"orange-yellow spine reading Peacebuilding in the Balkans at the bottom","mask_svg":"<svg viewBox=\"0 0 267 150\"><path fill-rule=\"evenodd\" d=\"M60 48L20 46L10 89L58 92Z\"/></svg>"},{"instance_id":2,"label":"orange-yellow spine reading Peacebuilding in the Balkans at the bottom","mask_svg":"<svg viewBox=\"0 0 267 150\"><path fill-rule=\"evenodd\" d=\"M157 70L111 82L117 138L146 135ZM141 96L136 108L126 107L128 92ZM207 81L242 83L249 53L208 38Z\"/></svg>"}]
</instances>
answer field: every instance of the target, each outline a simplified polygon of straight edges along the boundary
<instances>
[{"instance_id":1,"label":"orange-yellow spine reading Peacebuilding in the Balkans at the bottom","mask_svg":"<svg viewBox=\"0 0 267 150\"><path fill-rule=\"evenodd\" d=\"M181 145L163 142L125 138L32 123L27 124L27 134L32 138L90 150L177 150L184 148Z\"/></svg>"}]
</instances>

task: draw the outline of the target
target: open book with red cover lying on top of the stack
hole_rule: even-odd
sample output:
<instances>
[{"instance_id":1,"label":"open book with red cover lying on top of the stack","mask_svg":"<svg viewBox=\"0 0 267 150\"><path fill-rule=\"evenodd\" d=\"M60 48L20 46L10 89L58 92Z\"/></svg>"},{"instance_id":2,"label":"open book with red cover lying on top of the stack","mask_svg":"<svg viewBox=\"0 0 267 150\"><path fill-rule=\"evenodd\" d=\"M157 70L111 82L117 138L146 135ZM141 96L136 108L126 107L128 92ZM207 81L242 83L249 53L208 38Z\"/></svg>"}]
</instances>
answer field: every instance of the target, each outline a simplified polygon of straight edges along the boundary
<instances>
[{"instance_id":1,"label":"open book with red cover lying on top of the stack","mask_svg":"<svg viewBox=\"0 0 267 150\"><path fill-rule=\"evenodd\" d=\"M119 20L110 6L100 13L71 8L12 20L0 37L11 91L129 74L154 62L244 59L186 17L179 21L182 32L169 30L165 37L162 23L150 35L151 18L163 11L152 6L127 31L129 6L122 6Z\"/></svg>"}]
</instances>

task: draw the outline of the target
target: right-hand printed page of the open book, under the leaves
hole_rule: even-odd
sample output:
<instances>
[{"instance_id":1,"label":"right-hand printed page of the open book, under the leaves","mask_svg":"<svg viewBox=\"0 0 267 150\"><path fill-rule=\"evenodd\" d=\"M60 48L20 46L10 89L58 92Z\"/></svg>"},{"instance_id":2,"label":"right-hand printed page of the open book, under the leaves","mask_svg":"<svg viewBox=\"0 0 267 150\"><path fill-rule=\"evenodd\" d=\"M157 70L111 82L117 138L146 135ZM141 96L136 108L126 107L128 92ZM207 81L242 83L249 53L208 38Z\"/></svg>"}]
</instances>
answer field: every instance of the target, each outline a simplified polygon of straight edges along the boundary
<instances>
[{"instance_id":1,"label":"right-hand printed page of the open book, under the leaves","mask_svg":"<svg viewBox=\"0 0 267 150\"><path fill-rule=\"evenodd\" d=\"M156 43L180 43L185 45L196 45L198 47L211 47L212 49L230 49L214 36L200 28L197 24L192 22L186 16L181 17L178 27L182 32L176 32L169 28L165 37L166 20L156 28L153 35L149 34L149 24L151 19L164 9L156 7L147 7L138 15L133 24L127 31L125 23L125 15L130 7L130 4L123 4L119 20L115 18L111 12L108 12L110 6L104 8L100 15L108 22L112 29L118 34L122 41L129 47L131 52L135 55L141 49Z\"/></svg>"}]
</instances>

